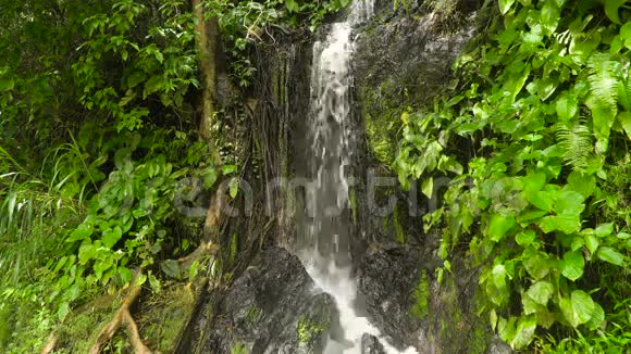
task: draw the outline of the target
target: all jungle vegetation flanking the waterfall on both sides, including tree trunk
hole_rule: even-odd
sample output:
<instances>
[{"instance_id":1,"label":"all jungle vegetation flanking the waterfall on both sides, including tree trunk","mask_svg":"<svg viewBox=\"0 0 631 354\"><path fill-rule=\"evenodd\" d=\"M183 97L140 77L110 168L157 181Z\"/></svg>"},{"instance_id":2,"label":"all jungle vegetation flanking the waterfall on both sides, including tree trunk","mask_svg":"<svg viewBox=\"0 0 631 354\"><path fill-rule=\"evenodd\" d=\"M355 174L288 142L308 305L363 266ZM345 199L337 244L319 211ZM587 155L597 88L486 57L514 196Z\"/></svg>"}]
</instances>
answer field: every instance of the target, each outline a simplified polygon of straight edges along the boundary
<instances>
[{"instance_id":1,"label":"all jungle vegetation flanking the waterfall on both sides, including tree trunk","mask_svg":"<svg viewBox=\"0 0 631 354\"><path fill-rule=\"evenodd\" d=\"M185 301L230 282L250 245L215 206L264 164L257 48L349 2L0 0L1 352L157 349L171 334L129 309L140 290ZM442 236L436 276L467 253L479 311L514 349L629 353L631 3L478 15L449 90L393 123L400 184L442 201L422 220ZM182 213L195 188L219 195L208 214Z\"/></svg>"}]
</instances>

